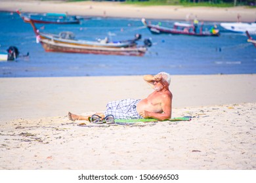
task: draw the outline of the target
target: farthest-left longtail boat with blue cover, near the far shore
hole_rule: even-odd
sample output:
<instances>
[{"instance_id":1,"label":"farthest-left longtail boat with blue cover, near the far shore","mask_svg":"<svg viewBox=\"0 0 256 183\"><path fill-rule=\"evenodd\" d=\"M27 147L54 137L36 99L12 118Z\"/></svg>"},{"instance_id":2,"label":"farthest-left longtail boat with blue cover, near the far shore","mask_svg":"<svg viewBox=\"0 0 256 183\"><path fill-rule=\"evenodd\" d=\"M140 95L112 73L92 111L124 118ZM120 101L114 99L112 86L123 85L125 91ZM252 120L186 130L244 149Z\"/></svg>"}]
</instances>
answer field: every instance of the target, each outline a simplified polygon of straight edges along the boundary
<instances>
[{"instance_id":1,"label":"farthest-left longtail boat with blue cover, near the far shore","mask_svg":"<svg viewBox=\"0 0 256 183\"><path fill-rule=\"evenodd\" d=\"M22 20L26 23L30 23L32 20L35 23L39 24L79 24L80 18L77 16L70 16L67 14L61 13L45 13L45 14L29 14L22 13L20 10L16 10L20 15Z\"/></svg>"}]
</instances>

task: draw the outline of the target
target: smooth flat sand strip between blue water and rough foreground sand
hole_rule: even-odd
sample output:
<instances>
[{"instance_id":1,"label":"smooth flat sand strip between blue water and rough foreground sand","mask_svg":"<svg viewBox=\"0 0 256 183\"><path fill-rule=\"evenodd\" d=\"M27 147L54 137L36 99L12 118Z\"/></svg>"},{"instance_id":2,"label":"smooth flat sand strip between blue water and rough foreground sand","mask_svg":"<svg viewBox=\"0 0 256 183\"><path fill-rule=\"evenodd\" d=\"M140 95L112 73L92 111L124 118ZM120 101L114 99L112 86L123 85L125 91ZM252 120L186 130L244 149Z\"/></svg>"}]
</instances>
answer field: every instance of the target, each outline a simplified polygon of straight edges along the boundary
<instances>
[{"instance_id":1,"label":"smooth flat sand strip between blue water and rough foreground sand","mask_svg":"<svg viewBox=\"0 0 256 183\"><path fill-rule=\"evenodd\" d=\"M97 112L152 92L142 76L0 78L0 86L1 120ZM256 102L256 75L174 75L170 88L174 108Z\"/></svg>"}]
</instances>

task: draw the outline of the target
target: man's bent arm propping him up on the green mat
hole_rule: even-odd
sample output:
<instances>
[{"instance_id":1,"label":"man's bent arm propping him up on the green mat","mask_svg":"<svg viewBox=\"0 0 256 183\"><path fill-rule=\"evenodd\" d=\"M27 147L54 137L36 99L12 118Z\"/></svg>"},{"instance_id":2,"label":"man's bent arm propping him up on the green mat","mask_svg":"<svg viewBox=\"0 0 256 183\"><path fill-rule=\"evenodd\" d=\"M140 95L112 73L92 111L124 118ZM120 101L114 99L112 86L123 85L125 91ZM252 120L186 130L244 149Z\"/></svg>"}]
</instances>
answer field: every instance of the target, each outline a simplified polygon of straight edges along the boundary
<instances>
[{"instance_id":1,"label":"man's bent arm propping him up on the green mat","mask_svg":"<svg viewBox=\"0 0 256 183\"><path fill-rule=\"evenodd\" d=\"M163 109L162 113L149 112L144 110L140 112L140 116L142 116L143 118L154 118L161 121L171 119L172 98L172 95L163 96L163 102L161 103L161 107Z\"/></svg>"}]
</instances>

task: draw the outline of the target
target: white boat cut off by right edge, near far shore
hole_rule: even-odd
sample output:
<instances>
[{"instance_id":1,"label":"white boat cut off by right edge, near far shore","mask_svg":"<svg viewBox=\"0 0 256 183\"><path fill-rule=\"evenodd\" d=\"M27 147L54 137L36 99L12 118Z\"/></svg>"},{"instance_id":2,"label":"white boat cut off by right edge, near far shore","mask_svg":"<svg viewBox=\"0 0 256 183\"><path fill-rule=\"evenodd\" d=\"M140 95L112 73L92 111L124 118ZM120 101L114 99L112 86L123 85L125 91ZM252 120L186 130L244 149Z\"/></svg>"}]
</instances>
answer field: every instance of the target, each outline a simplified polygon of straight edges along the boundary
<instances>
[{"instance_id":1,"label":"white boat cut off by right edge, near far shore","mask_svg":"<svg viewBox=\"0 0 256 183\"><path fill-rule=\"evenodd\" d=\"M221 27L228 31L236 33L245 33L248 31L250 34L256 35L256 23L221 23Z\"/></svg>"}]
</instances>

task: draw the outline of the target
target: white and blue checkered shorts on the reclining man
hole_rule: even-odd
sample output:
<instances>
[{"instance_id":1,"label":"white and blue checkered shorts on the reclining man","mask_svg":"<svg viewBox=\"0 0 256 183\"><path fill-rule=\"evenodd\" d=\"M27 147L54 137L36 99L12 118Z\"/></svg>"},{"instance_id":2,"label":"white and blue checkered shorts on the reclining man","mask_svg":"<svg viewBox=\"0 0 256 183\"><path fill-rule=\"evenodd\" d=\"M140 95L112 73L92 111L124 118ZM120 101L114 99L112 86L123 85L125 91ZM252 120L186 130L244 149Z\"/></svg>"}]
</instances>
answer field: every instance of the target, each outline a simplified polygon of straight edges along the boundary
<instances>
[{"instance_id":1,"label":"white and blue checkered shorts on the reclining man","mask_svg":"<svg viewBox=\"0 0 256 183\"><path fill-rule=\"evenodd\" d=\"M125 99L112 101L106 105L105 116L112 114L115 119L138 119L142 118L137 112L136 107L140 100Z\"/></svg>"}]
</instances>

